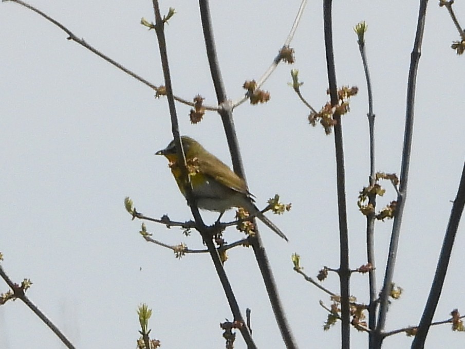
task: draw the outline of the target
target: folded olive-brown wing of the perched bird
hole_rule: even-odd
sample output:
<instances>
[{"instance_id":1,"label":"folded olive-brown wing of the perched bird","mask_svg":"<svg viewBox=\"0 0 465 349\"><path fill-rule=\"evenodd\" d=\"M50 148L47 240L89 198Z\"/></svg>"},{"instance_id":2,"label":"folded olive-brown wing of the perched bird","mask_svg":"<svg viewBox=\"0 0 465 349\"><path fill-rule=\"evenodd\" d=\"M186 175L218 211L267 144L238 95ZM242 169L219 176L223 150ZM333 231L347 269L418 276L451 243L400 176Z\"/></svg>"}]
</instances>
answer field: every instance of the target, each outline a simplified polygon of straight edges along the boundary
<instances>
[{"instance_id":1,"label":"folded olive-brown wing of the perched bird","mask_svg":"<svg viewBox=\"0 0 465 349\"><path fill-rule=\"evenodd\" d=\"M215 179L222 185L239 193L250 195L244 179L240 178L226 163L213 154L203 154L198 159L198 167L201 173Z\"/></svg>"}]
</instances>

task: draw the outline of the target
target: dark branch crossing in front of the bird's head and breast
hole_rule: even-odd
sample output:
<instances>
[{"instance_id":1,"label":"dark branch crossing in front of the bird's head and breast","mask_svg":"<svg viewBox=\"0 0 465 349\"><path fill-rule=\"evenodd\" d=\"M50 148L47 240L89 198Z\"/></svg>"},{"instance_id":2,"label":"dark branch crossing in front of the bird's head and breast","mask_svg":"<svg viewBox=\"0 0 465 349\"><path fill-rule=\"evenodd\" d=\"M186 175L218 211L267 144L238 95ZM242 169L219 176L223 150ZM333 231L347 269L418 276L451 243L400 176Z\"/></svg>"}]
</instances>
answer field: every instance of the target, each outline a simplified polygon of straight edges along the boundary
<instances>
[{"instance_id":1,"label":"dark branch crossing in front of the bird's head and breast","mask_svg":"<svg viewBox=\"0 0 465 349\"><path fill-rule=\"evenodd\" d=\"M174 105L173 89L171 86L170 66L168 63L168 54L166 51L166 41L165 41L165 36L164 36L164 22L161 18L158 0L153 0L153 7L154 7L155 19L156 19L155 31L157 34L161 63L163 67L163 76L165 80L166 98L168 98L168 105L170 108L172 132L173 132L173 136L176 142L178 158L183 160L183 161L180 161L180 163L183 163L183 166L181 166L181 170L183 172L182 175L184 176L184 178L189 178L187 168L185 166L185 156L184 156L184 151L182 149L182 142L181 142L180 135L179 135L179 125L178 125L178 119L176 115L176 108ZM243 326L239 327L239 330L245 342L247 343L247 347L249 349L256 349L256 345L252 339L249 328L247 327L247 325L245 325L244 318L240 313L239 305L234 296L234 292L232 290L231 284L226 275L225 269L222 265L218 251L216 250L215 245L213 244L211 233L209 232L208 227L203 223L202 217L200 216L195 197L192 195L192 188L190 187L190 184L187 185L185 189L186 189L186 193L188 196L188 203L189 203L189 206L191 208L192 214L196 222L196 227L200 231L203 241L206 243L208 247L208 250L210 252L210 256L212 258L216 272L218 274L221 285L228 299L229 306L233 313L234 320L244 324Z\"/></svg>"}]
</instances>

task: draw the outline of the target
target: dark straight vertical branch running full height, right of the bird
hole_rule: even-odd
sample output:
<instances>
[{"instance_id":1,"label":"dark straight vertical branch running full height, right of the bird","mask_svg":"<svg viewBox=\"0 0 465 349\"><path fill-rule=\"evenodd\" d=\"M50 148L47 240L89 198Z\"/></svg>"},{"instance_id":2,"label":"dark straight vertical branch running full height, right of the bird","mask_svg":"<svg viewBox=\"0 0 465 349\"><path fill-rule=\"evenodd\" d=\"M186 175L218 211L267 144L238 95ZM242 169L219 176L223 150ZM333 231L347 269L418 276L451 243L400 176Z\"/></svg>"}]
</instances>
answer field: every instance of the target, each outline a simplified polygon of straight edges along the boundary
<instances>
[{"instance_id":1,"label":"dark straight vertical branch running full height, right of the bird","mask_svg":"<svg viewBox=\"0 0 465 349\"><path fill-rule=\"evenodd\" d=\"M326 65L328 70L329 91L331 105L338 104L338 87L336 83L336 67L334 65L334 52L332 42L332 0L323 2L323 18L325 31ZM347 207L345 197L345 170L344 170L344 148L342 143L341 116L338 112L333 115L334 125L334 148L336 150L336 172L338 192L338 216L339 216L339 242L340 242L340 265L339 280L341 284L341 348L350 347L350 313L349 313L349 236L347 228Z\"/></svg>"}]
</instances>

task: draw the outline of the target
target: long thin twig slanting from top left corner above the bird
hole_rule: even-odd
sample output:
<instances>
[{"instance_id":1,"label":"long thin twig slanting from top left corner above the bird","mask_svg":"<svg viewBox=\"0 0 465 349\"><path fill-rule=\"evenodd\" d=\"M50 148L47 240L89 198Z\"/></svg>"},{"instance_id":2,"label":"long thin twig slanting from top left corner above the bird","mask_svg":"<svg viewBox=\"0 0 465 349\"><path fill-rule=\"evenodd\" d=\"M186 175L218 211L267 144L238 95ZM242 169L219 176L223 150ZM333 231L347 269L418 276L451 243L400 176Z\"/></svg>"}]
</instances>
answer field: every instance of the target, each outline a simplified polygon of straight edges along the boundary
<instances>
[{"instance_id":1,"label":"long thin twig slanting from top left corner above the bird","mask_svg":"<svg viewBox=\"0 0 465 349\"><path fill-rule=\"evenodd\" d=\"M129 70L127 69L126 67L124 67L122 64L116 62L115 60L109 58L108 56L106 56L105 54L103 54L102 52L100 52L98 49L96 49L95 47L89 45L84 39L80 39L78 38L78 36L76 34L74 34L71 30L69 30L67 27L65 27L63 24L61 24L60 22L58 22L57 20L54 20L52 17L50 17L49 15L45 14L44 12L42 12L41 10L35 8L34 6L32 5L29 5L21 0L3 0L5 2L12 2L12 3L16 3L18 5L22 5L28 9L30 9L31 11L35 12L35 13L38 13L39 15L41 15L42 17L44 17L47 21L53 23L55 26L59 27L61 30L63 30L66 34L68 34L68 38L67 40L71 40L71 41L74 41L76 43L78 43L79 45L85 47L86 49L88 49L89 51L91 51L92 53L95 53L97 54L97 56L99 56L100 58L103 58L105 61L107 61L108 63L114 65L115 67L117 67L118 69L124 71L127 75L133 77L134 79L142 82L143 84L145 84L146 86L152 88L154 91L159 91L160 89L160 86L155 86L153 83L151 82L148 82L147 80L145 80L144 78L142 78L141 76L137 75L135 72L133 72L132 70ZM181 98L181 97L177 97L177 96L173 96L173 98L177 101L177 102L180 102L182 104L186 104L186 105L189 105L191 107L194 107L195 106L195 103L194 102L191 102L191 101L188 101L184 98ZM209 110L209 111L218 111L218 106L211 106L211 105L202 105L206 110Z\"/></svg>"}]
</instances>

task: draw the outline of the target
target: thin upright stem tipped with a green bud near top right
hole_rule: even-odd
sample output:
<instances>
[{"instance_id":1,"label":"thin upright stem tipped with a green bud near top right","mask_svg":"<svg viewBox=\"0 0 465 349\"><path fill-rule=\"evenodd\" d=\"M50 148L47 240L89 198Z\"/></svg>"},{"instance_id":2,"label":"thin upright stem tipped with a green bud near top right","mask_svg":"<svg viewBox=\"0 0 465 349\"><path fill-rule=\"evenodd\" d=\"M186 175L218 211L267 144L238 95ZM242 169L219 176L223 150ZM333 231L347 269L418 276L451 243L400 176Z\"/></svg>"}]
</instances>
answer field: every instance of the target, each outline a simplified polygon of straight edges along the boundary
<instances>
[{"instance_id":1,"label":"thin upright stem tipped with a green bud near top right","mask_svg":"<svg viewBox=\"0 0 465 349\"><path fill-rule=\"evenodd\" d=\"M358 44L360 50L360 56L362 57L363 70L365 71L366 88L368 94L368 127L369 127L369 148L370 148L370 176L369 185L373 187L376 183L375 173L375 114L373 113L373 93L371 92L371 79L370 72L368 69L368 62L366 59L365 51L365 39L364 33L366 31L366 25L363 22L356 32L358 34ZM376 327L376 268L375 268L375 209L376 209L376 194L370 194L368 197L368 205L373 207L373 212L366 216L366 255L367 262L371 265L371 269L368 272L368 283L369 283L369 304L368 304L368 328L370 332L369 336L369 347L374 345L374 330Z\"/></svg>"}]
</instances>

